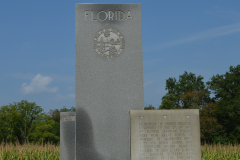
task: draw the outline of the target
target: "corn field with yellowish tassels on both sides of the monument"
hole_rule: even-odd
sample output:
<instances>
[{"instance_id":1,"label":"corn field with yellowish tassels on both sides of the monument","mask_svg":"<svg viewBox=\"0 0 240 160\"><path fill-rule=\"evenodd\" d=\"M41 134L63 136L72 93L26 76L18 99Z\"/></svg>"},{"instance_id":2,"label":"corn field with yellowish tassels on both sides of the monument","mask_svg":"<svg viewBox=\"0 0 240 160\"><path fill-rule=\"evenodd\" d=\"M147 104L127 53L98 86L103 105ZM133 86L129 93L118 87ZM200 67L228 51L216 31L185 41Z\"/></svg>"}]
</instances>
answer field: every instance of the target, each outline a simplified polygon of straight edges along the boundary
<instances>
[{"instance_id":1,"label":"corn field with yellowish tassels on both sides of the monument","mask_svg":"<svg viewBox=\"0 0 240 160\"><path fill-rule=\"evenodd\" d=\"M240 145L202 145L202 160L240 160ZM0 160L59 160L60 146L0 144Z\"/></svg>"}]
</instances>

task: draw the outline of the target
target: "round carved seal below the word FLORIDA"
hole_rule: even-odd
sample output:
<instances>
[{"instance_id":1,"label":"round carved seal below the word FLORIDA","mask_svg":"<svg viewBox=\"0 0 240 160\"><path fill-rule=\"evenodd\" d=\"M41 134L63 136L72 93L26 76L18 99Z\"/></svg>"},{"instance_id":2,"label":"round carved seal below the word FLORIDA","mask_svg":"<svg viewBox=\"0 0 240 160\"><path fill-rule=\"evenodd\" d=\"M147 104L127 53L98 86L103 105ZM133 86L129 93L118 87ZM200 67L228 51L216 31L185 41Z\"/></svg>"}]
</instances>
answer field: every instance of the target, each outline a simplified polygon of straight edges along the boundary
<instances>
[{"instance_id":1,"label":"round carved seal below the word FLORIDA","mask_svg":"<svg viewBox=\"0 0 240 160\"><path fill-rule=\"evenodd\" d=\"M94 37L94 49L103 58L115 58L124 49L124 38L116 29L102 29Z\"/></svg>"}]
</instances>

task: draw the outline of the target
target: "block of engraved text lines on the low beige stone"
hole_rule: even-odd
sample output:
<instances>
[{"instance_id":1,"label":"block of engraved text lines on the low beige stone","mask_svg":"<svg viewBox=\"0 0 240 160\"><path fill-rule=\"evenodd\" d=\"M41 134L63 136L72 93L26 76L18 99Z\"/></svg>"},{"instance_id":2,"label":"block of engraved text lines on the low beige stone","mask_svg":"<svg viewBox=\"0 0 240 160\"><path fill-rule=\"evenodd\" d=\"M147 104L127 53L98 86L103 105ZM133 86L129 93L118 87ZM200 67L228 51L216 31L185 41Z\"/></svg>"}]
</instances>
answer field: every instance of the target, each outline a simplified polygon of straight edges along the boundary
<instances>
[{"instance_id":1,"label":"block of engraved text lines on the low beige stone","mask_svg":"<svg viewBox=\"0 0 240 160\"><path fill-rule=\"evenodd\" d=\"M139 123L140 159L193 159L190 125L174 121Z\"/></svg>"}]
</instances>

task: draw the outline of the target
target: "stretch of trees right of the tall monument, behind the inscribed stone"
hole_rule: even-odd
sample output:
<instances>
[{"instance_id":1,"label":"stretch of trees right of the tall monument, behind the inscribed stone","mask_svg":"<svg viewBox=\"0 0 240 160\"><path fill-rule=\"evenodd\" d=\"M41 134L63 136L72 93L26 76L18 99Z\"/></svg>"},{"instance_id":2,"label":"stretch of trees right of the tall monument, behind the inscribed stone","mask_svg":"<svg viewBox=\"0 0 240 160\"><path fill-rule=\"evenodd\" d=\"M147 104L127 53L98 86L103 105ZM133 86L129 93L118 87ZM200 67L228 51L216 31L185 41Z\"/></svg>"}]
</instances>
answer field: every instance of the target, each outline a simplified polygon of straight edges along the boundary
<instances>
[{"instance_id":1,"label":"stretch of trees right of the tall monument, behind the inscribed stone","mask_svg":"<svg viewBox=\"0 0 240 160\"><path fill-rule=\"evenodd\" d=\"M240 65L206 83L185 71L178 80L168 78L165 89L157 109L199 109L202 142L240 143Z\"/></svg>"}]
</instances>

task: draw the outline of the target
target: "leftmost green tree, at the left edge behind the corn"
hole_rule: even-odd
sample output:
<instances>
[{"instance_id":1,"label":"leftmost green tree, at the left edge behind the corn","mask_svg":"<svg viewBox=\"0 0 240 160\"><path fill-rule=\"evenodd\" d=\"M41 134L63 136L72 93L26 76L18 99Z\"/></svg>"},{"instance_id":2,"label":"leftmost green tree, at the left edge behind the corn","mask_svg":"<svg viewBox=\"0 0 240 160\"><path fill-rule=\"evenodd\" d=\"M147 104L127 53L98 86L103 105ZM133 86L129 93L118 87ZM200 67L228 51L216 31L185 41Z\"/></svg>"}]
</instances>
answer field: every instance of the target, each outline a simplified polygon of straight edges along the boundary
<instances>
[{"instance_id":1,"label":"leftmost green tree, at the left edge behind the corn","mask_svg":"<svg viewBox=\"0 0 240 160\"><path fill-rule=\"evenodd\" d=\"M29 133L32 132L36 117L42 111L43 109L35 102L26 100L2 106L0 109L0 132L3 134L0 137L8 142L16 140L20 143L26 142Z\"/></svg>"}]
</instances>

